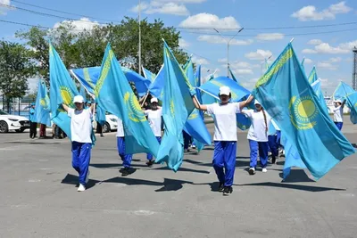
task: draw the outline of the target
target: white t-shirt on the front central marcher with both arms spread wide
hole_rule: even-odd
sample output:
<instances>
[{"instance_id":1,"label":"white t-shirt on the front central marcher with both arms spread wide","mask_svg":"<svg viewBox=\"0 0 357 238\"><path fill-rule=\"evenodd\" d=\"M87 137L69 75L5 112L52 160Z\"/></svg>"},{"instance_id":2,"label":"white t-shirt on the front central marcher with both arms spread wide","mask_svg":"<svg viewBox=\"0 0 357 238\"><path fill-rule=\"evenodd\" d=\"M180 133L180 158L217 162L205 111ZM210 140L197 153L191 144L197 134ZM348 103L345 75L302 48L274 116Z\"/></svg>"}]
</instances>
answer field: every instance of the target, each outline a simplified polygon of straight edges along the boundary
<instances>
[{"instance_id":1,"label":"white t-shirt on the front central marcher with both arms spread wide","mask_svg":"<svg viewBox=\"0 0 357 238\"><path fill-rule=\"evenodd\" d=\"M237 141L236 114L240 112L239 103L212 103L207 112L214 115L214 141Z\"/></svg>"}]
</instances>

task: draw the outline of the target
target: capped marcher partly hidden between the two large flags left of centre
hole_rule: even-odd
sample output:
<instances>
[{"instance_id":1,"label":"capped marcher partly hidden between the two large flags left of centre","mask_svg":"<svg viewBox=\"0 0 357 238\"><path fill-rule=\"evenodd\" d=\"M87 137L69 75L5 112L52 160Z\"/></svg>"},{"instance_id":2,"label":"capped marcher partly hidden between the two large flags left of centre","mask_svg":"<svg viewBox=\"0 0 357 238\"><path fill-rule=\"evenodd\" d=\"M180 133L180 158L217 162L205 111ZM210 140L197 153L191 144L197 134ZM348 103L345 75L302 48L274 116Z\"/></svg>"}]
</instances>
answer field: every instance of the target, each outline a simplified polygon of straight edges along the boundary
<instances>
[{"instance_id":1,"label":"capped marcher partly hidden between the two large flags left of centre","mask_svg":"<svg viewBox=\"0 0 357 238\"><path fill-rule=\"evenodd\" d=\"M159 101L157 98L152 97L150 100L151 110L145 110L144 114L147 117L149 125L154 132L154 135L159 142L162 143L162 108L158 106ZM146 162L148 167L152 167L154 164L153 155L151 153L146 154Z\"/></svg>"}]
</instances>

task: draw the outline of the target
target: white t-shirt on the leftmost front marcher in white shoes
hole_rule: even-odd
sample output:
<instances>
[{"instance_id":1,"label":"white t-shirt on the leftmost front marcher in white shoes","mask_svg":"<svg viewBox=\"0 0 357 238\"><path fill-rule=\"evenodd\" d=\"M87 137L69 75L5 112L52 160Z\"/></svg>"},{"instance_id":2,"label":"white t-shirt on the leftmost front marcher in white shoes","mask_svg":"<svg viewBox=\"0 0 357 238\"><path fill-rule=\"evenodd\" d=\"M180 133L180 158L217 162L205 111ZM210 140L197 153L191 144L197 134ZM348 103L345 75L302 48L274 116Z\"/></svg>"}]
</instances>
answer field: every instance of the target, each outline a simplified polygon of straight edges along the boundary
<instances>
[{"instance_id":1,"label":"white t-shirt on the leftmost front marcher in white shoes","mask_svg":"<svg viewBox=\"0 0 357 238\"><path fill-rule=\"evenodd\" d=\"M71 140L79 143L92 143L92 111L83 109L82 111L70 108L68 116L71 118Z\"/></svg>"}]
</instances>

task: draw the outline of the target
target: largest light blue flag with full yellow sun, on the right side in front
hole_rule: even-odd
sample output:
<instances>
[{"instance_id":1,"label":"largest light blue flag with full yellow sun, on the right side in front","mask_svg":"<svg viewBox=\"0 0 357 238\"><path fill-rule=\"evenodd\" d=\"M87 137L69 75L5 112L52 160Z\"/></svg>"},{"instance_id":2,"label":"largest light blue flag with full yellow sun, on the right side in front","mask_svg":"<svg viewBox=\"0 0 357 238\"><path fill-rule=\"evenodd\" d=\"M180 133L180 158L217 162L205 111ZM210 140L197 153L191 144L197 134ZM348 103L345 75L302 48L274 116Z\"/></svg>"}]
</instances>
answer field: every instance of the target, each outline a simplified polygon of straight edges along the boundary
<instances>
[{"instance_id":1,"label":"largest light blue flag with full yellow sun, on the right side in front","mask_svg":"<svg viewBox=\"0 0 357 238\"><path fill-rule=\"evenodd\" d=\"M253 94L287 141L295 145L316 179L354 153L353 146L321 107L291 43L259 79Z\"/></svg>"}]
</instances>

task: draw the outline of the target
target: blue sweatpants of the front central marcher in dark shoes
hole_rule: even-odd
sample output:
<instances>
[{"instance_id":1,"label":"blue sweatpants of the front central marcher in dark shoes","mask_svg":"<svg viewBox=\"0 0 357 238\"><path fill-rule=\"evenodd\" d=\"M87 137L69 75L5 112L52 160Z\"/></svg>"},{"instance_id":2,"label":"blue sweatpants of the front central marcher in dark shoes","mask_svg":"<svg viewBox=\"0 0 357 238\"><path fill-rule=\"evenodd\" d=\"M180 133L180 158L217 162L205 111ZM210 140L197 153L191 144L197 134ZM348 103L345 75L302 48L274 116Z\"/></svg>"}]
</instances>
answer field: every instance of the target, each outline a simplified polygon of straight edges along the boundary
<instances>
[{"instance_id":1,"label":"blue sweatpants of the front central marcher in dark shoes","mask_svg":"<svg viewBox=\"0 0 357 238\"><path fill-rule=\"evenodd\" d=\"M237 142L214 142L213 168L216 171L218 180L225 186L233 185L236 154Z\"/></svg>"}]
</instances>

